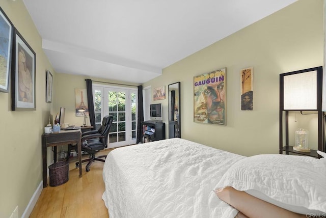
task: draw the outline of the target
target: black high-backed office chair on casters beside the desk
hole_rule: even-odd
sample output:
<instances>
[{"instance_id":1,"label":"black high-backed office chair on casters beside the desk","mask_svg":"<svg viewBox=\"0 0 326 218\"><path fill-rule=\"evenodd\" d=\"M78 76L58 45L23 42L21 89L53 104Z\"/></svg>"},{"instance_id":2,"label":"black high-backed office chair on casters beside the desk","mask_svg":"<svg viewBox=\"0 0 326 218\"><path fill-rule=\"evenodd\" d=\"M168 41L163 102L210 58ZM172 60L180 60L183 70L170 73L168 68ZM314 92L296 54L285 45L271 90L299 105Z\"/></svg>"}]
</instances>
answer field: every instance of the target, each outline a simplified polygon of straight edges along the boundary
<instances>
[{"instance_id":1,"label":"black high-backed office chair on casters beside the desk","mask_svg":"<svg viewBox=\"0 0 326 218\"><path fill-rule=\"evenodd\" d=\"M108 133L112 126L113 116L105 116L102 120L102 125L98 130L91 130L84 132L82 135L82 151L85 151L92 155L91 158L84 159L82 162L88 162L86 165L86 172L90 171L90 166L93 161L98 160L105 162L106 155L95 157L95 153L103 150L107 145ZM76 162L76 168L79 167L79 163Z\"/></svg>"}]
</instances>

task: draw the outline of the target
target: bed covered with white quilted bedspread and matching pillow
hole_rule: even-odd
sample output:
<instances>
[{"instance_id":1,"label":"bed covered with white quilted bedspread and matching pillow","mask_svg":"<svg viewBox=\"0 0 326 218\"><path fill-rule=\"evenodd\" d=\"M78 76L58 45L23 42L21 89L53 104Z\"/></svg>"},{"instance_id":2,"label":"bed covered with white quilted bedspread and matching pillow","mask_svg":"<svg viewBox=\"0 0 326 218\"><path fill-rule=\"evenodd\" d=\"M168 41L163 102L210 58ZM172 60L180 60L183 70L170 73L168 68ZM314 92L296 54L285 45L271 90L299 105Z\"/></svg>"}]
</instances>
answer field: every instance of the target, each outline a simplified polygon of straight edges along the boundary
<instances>
[{"instance_id":1,"label":"bed covered with white quilted bedspread and matching pillow","mask_svg":"<svg viewBox=\"0 0 326 218\"><path fill-rule=\"evenodd\" d=\"M300 177L301 171L285 170L291 166L298 169L296 159L300 159L298 164L307 163L310 170L302 176L307 181ZM279 168L285 176L280 176ZM288 179L278 181L279 177ZM300 180L293 181L293 177ZM168 139L111 151L104 163L103 180L102 199L111 218L235 217L239 211L232 202L216 196L230 186L286 210L326 215L325 158L244 157Z\"/></svg>"}]
</instances>

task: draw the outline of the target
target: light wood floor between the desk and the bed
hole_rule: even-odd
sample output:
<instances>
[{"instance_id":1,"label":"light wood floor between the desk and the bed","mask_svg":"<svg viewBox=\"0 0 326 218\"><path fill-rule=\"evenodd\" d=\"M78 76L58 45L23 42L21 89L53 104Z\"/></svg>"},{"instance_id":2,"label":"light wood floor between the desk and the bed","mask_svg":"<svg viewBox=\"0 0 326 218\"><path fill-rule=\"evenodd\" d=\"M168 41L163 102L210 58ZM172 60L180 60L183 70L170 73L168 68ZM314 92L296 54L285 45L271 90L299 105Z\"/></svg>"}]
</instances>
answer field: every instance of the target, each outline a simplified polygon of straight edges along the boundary
<instances>
[{"instance_id":1,"label":"light wood floor between the desk and the bed","mask_svg":"<svg viewBox=\"0 0 326 218\"><path fill-rule=\"evenodd\" d=\"M106 155L112 149L106 149L96 154ZM83 155L82 159L88 158ZM108 217L107 208L102 200L104 182L102 171L104 163L94 161L90 171L86 172L87 163L83 163L83 176L79 178L76 169L76 158L69 159L69 181L57 187L43 188L30 217ZM49 182L48 182L49 184Z\"/></svg>"}]
</instances>

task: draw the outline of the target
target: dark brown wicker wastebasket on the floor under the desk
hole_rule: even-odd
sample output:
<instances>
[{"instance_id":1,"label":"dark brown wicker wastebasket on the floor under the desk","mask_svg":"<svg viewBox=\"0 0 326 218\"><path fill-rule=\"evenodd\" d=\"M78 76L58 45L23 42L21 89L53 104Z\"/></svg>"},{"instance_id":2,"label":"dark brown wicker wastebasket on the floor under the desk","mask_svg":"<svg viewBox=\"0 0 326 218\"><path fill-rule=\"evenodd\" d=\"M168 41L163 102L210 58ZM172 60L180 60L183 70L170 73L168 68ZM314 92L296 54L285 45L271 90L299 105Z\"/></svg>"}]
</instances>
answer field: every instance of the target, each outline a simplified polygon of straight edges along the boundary
<instances>
[{"instance_id":1,"label":"dark brown wicker wastebasket on the floor under the desk","mask_svg":"<svg viewBox=\"0 0 326 218\"><path fill-rule=\"evenodd\" d=\"M50 186L55 187L69 180L69 162L60 161L49 166Z\"/></svg>"}]
</instances>

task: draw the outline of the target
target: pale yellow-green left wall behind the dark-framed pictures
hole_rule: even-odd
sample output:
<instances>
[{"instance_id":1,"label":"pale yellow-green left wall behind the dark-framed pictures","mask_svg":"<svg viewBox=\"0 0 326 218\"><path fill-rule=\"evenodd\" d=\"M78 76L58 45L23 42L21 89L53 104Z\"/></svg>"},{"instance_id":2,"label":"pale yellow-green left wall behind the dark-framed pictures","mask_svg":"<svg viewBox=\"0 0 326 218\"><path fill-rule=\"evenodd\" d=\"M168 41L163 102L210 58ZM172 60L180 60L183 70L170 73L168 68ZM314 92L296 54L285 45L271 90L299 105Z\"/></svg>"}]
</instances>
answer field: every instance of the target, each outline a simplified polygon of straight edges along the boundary
<instances>
[{"instance_id":1,"label":"pale yellow-green left wall behind the dark-framed pictures","mask_svg":"<svg viewBox=\"0 0 326 218\"><path fill-rule=\"evenodd\" d=\"M36 111L11 111L10 93L0 92L0 217L10 217L17 205L21 217L42 180L41 134L52 108L45 102L45 71L53 73L53 80L56 73L23 2L0 1L0 7L36 52Z\"/></svg>"}]
</instances>

